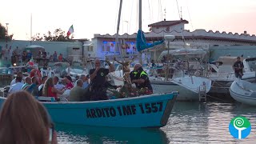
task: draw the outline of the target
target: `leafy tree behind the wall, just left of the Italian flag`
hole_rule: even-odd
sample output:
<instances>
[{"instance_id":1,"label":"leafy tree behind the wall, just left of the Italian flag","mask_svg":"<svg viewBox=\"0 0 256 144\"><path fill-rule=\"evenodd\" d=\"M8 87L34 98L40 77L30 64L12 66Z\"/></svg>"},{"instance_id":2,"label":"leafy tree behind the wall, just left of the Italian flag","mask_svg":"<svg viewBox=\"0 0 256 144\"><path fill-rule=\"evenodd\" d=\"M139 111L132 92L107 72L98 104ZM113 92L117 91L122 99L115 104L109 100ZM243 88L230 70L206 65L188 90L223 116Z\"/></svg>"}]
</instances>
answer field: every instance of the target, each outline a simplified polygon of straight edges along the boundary
<instances>
[{"instance_id":1,"label":"leafy tree behind the wall, just left of the Italian flag","mask_svg":"<svg viewBox=\"0 0 256 144\"><path fill-rule=\"evenodd\" d=\"M66 32L63 31L62 29L56 29L54 30L54 34L52 34L50 31L48 31L47 34L43 34L41 36L39 33L36 34L33 38L32 41L54 41L54 42L70 42L74 36L72 35L71 38L66 35Z\"/></svg>"}]
</instances>

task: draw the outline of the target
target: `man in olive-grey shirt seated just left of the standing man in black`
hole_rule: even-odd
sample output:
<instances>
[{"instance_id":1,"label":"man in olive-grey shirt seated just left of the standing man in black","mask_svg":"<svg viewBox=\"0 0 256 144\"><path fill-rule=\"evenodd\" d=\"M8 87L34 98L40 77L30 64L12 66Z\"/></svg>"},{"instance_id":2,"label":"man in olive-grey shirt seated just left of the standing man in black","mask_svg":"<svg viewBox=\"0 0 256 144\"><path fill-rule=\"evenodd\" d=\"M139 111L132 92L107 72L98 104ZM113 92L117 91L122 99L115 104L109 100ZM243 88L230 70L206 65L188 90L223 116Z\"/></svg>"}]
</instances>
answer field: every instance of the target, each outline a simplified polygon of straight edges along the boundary
<instances>
[{"instance_id":1,"label":"man in olive-grey shirt seated just left of the standing man in black","mask_svg":"<svg viewBox=\"0 0 256 144\"><path fill-rule=\"evenodd\" d=\"M70 102L84 101L83 96L86 91L82 88L82 85L83 85L82 79L78 79L77 86L75 86L70 90L70 97L68 99Z\"/></svg>"}]
</instances>

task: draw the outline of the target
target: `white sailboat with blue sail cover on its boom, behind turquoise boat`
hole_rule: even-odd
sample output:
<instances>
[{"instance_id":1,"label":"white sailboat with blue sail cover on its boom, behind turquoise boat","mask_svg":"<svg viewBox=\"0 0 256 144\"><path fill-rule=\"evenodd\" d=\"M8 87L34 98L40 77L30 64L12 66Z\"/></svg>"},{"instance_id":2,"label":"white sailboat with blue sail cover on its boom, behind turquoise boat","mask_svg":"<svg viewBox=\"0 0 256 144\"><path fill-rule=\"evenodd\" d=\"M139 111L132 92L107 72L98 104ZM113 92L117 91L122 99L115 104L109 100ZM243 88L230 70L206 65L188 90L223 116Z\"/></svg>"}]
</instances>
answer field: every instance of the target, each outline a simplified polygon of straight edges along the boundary
<instances>
[{"instance_id":1,"label":"white sailboat with blue sail cover on its boom, behind turquoise boat","mask_svg":"<svg viewBox=\"0 0 256 144\"><path fill-rule=\"evenodd\" d=\"M141 4L141 3L140 3ZM141 6L141 5L140 5ZM141 8L141 7L140 7ZM120 14L120 10L119 10ZM117 34L118 36L118 34ZM170 38L166 36L166 38ZM118 37L117 37L118 39ZM162 43L168 41L166 39L163 39L162 41L159 42L154 42L154 43L147 43L145 35L142 31L142 14L141 14L141 9L139 13L139 30L137 33L137 39L136 39L136 48L140 54L142 54L143 51L148 50L154 46L161 45ZM116 41L118 42L118 41ZM169 45L168 45L169 46ZM169 52L169 49L168 49ZM142 60L140 59L140 62ZM170 67L169 67L170 69ZM133 70L132 68L130 70ZM145 70L145 69L144 69ZM124 83L124 78L122 78L122 66L118 66L117 69L114 71L114 73L110 74L114 80L115 85L123 85ZM162 79L156 78L153 80L153 78L150 78L151 80L151 85L153 86L153 91L154 94L162 94L166 92L170 92L173 90L178 90L179 95L177 100L179 101L191 101L191 100L198 100L198 95L199 95L199 87L204 86L206 93L210 90L211 86L211 81L210 79L207 78L201 78L201 77L195 77L188 75L186 77L178 77L174 79L166 79L162 81Z\"/></svg>"}]
</instances>

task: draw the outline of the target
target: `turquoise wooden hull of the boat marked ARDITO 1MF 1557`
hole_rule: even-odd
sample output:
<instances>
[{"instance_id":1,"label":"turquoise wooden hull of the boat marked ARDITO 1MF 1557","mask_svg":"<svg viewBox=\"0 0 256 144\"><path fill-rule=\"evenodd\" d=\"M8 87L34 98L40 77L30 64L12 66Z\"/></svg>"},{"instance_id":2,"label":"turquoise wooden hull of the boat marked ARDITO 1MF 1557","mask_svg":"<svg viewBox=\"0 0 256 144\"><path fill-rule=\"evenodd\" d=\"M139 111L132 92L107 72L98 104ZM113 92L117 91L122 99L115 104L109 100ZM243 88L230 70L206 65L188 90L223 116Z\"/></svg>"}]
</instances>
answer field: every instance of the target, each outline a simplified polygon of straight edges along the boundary
<instances>
[{"instance_id":1,"label":"turquoise wooden hull of the boat marked ARDITO 1MF 1557","mask_svg":"<svg viewBox=\"0 0 256 144\"><path fill-rule=\"evenodd\" d=\"M178 92L90 102L42 102L54 122L86 126L162 127ZM6 98L0 98L0 106Z\"/></svg>"}]
</instances>

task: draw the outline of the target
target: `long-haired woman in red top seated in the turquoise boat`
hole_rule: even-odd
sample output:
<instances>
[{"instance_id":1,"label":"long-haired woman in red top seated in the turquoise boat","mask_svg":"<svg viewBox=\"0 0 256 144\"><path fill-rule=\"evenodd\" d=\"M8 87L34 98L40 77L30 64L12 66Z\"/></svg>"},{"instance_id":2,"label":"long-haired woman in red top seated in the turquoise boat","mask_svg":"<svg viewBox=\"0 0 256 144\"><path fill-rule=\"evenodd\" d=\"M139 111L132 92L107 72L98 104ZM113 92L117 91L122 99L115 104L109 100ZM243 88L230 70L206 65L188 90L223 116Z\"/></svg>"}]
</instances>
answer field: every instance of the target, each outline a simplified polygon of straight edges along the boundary
<instances>
[{"instance_id":1,"label":"long-haired woman in red top seated in the turquoise boat","mask_svg":"<svg viewBox=\"0 0 256 144\"><path fill-rule=\"evenodd\" d=\"M63 94L65 89L63 90L57 90L54 87L54 81L53 78L48 78L45 82L45 86L43 86L42 95L45 97L54 97L56 100L58 100L58 94Z\"/></svg>"}]
</instances>

